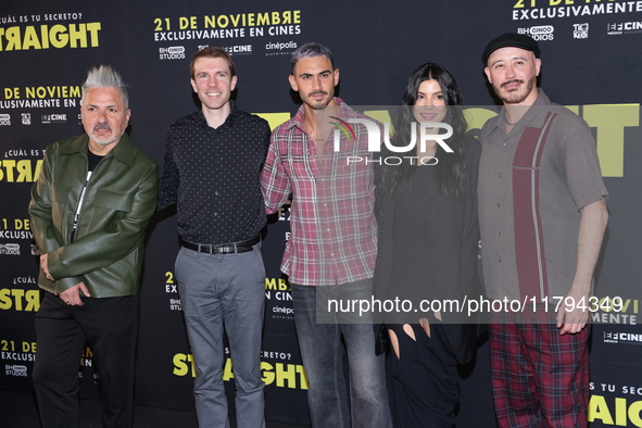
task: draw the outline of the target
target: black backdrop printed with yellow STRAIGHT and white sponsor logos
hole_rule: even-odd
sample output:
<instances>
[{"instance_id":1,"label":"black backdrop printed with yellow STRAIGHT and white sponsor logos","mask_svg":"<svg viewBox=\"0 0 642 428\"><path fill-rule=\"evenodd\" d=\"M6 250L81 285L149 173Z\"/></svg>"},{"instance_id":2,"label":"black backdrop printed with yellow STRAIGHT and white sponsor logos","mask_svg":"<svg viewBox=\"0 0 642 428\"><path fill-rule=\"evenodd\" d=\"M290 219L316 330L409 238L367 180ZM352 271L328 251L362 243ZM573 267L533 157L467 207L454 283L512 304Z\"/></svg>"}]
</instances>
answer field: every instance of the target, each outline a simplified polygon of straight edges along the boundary
<instances>
[{"instance_id":1,"label":"black backdrop printed with yellow STRAIGHT and white sponsor logos","mask_svg":"<svg viewBox=\"0 0 642 428\"><path fill-rule=\"evenodd\" d=\"M267 5L269 4L269 5ZM505 32L528 34L542 51L541 86L592 127L610 192L610 221L596 272L592 313L591 426L642 427L642 1L446 0L405 2L280 0L8 0L0 8L0 388L30 391L38 356L34 317L41 292L29 228L29 189L43 149L83 133L81 83L111 64L130 87L133 140L162 165L165 135L198 109L191 54L219 46L238 71L239 108L270 125L291 117L290 54L306 41L332 49L339 96L354 105L394 105L407 76L438 62L456 77L473 131L495 114L481 52ZM289 211L269 219L264 255L263 379L270 420L309 424L307 381L294 335L292 302L279 263ZM136 402L192 410L193 357L174 277L175 216L149 228L143 272ZM614 304L617 303L617 304ZM621 303L621 304L619 304ZM79 361L81 393L97 398L92 352ZM494 426L488 347L462 383L462 427ZM234 366L224 372L234 391ZM231 403L234 405L234 403Z\"/></svg>"}]
</instances>

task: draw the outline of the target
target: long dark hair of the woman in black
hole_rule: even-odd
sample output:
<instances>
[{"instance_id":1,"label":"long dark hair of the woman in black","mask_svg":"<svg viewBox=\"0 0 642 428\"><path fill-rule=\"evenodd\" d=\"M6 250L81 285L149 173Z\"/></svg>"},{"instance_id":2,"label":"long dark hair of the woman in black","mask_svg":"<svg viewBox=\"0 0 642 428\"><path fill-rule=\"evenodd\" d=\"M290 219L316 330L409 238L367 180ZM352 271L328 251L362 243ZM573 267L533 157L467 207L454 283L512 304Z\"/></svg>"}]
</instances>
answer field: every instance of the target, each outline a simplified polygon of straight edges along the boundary
<instances>
[{"instance_id":1,"label":"long dark hair of the woman in black","mask_svg":"<svg viewBox=\"0 0 642 428\"><path fill-rule=\"evenodd\" d=\"M416 126L412 106L415 105L415 102L417 101L417 93L421 83L430 79L437 80L441 87L448 109L443 122L448 123L453 128L452 137L445 140L448 146L453 149L453 153L446 153L441 146L438 144L437 153L435 155L438 159L438 163L431 167L437 168L439 193L443 197L458 198L463 193L464 186L464 136L467 125L462 109L462 92L457 87L455 78L441 65L426 63L417 68L408 78L401 101L402 108L395 116L395 134L391 143L396 147L407 146L411 140L412 127ZM386 150L385 153L386 155L399 155L399 153L392 153L389 150ZM386 184L387 189L383 189L383 191L388 197L392 197L396 185L404 179L411 180L415 171L416 166L411 162L402 162L400 165L394 165L393 167L385 167L382 182Z\"/></svg>"}]
</instances>

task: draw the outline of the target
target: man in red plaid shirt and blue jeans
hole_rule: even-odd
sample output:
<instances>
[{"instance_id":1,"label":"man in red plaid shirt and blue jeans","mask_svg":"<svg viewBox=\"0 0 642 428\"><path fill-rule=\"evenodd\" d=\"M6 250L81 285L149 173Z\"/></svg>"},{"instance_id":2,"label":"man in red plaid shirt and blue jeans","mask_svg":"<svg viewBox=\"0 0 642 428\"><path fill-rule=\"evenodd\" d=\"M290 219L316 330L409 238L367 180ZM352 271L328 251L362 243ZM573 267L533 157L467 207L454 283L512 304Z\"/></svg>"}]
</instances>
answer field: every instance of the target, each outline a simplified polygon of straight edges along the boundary
<instances>
[{"instance_id":1,"label":"man in red plaid shirt and blue jeans","mask_svg":"<svg viewBox=\"0 0 642 428\"><path fill-rule=\"evenodd\" d=\"M350 156L367 156L367 133L355 125L354 134L345 135L335 126L367 117L335 97L339 70L328 48L303 45L291 62L290 86L303 104L274 130L261 180L268 213L292 196L281 270L292 287L312 426L390 427L383 355L375 355L370 320L358 324L316 312L327 307L319 302L327 302L328 295L372 297L377 252L374 171L372 163L348 162Z\"/></svg>"}]
</instances>

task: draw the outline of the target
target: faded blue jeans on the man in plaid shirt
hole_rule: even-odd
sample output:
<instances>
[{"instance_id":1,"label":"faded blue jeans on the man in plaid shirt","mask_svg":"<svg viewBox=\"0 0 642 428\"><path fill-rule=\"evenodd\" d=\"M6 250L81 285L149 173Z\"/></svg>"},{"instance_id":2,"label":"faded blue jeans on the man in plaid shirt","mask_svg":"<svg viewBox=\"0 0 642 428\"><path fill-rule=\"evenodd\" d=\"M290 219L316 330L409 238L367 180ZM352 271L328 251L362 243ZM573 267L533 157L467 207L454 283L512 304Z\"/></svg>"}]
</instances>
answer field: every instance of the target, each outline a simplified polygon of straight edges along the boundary
<instances>
[{"instance_id":1,"label":"faded blue jeans on the man in plaid shirt","mask_svg":"<svg viewBox=\"0 0 642 428\"><path fill-rule=\"evenodd\" d=\"M345 284L370 299L372 279ZM372 324L317 324L318 287L292 285L294 324L309 379L307 404L314 428L392 427L386 389L385 355L375 354ZM352 293L351 293L352 294ZM341 337L345 345L341 342ZM343 376L348 355L350 403ZM351 425L352 420L352 425Z\"/></svg>"}]
</instances>

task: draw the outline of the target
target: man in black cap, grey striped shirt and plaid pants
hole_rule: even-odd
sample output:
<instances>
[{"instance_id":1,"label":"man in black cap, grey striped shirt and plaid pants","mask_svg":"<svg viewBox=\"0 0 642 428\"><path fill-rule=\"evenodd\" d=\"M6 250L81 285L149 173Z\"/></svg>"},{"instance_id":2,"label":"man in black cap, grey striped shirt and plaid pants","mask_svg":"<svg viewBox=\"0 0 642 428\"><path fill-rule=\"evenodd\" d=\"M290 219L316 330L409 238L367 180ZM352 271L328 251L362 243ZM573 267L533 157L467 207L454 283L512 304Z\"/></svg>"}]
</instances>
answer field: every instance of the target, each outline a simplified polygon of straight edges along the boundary
<instances>
[{"instance_id":1,"label":"man in black cap, grey striped shirt and plaid pants","mask_svg":"<svg viewBox=\"0 0 642 428\"><path fill-rule=\"evenodd\" d=\"M498 421L586 426L587 307L608 217L595 140L584 121L537 88L532 38L504 34L482 61L504 104L480 135L484 284L490 299L529 302L519 317L491 318Z\"/></svg>"}]
</instances>

